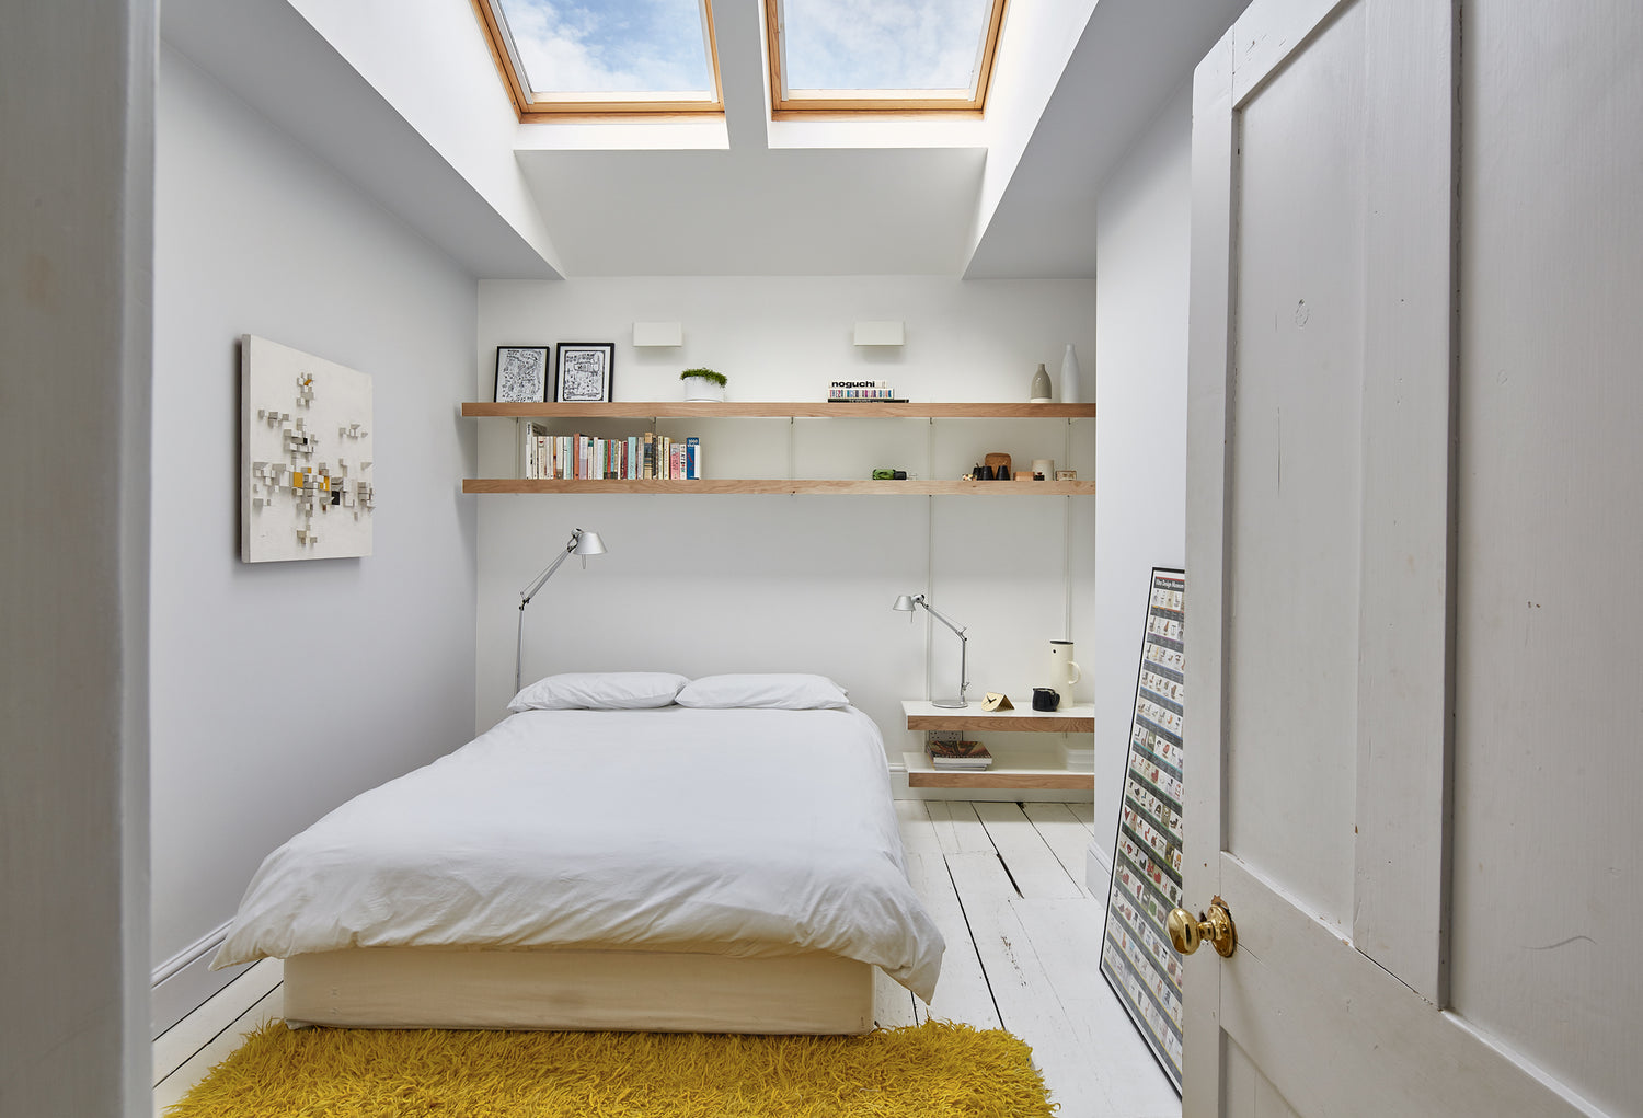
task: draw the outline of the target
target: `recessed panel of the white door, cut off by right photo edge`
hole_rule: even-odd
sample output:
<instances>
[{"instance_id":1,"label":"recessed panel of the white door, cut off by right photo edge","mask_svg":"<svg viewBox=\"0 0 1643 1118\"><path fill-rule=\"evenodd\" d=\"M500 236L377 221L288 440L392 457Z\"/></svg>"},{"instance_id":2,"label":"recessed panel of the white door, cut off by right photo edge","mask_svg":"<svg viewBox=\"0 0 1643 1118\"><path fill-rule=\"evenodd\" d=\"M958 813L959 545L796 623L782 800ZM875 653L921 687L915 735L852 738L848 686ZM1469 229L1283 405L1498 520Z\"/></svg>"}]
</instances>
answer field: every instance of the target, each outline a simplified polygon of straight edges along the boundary
<instances>
[{"instance_id":1,"label":"recessed panel of the white door, cut off by right photo edge","mask_svg":"<svg viewBox=\"0 0 1643 1118\"><path fill-rule=\"evenodd\" d=\"M1469 3L1462 97L1451 992L1636 1115L1643 7Z\"/></svg>"}]
</instances>

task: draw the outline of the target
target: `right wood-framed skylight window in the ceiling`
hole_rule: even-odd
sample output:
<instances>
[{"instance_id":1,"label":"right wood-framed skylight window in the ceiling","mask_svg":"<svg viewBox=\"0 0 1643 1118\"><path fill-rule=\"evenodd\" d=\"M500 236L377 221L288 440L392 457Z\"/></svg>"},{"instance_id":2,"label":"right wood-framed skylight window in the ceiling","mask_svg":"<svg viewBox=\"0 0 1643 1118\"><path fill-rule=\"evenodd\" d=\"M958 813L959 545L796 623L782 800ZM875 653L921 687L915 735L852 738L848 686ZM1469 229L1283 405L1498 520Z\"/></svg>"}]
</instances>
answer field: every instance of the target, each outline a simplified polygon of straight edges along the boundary
<instances>
[{"instance_id":1,"label":"right wood-framed skylight window in the ceiling","mask_svg":"<svg viewBox=\"0 0 1643 1118\"><path fill-rule=\"evenodd\" d=\"M1004 0L766 0L777 112L973 110Z\"/></svg>"}]
</instances>

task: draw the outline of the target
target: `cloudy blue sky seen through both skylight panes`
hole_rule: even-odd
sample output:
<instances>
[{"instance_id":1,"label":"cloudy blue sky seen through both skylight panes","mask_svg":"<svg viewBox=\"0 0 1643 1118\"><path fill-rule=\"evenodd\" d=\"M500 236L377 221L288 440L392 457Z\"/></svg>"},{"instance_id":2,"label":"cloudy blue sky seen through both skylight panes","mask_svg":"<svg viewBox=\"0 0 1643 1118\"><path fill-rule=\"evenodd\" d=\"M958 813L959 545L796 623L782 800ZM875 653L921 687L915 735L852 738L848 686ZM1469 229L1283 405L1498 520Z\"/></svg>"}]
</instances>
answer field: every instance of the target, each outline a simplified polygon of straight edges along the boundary
<instances>
[{"instance_id":1,"label":"cloudy blue sky seen through both skylight panes","mask_svg":"<svg viewBox=\"0 0 1643 1118\"><path fill-rule=\"evenodd\" d=\"M711 90L698 0L499 0L539 92ZM968 89L991 0L782 0L790 89Z\"/></svg>"}]
</instances>

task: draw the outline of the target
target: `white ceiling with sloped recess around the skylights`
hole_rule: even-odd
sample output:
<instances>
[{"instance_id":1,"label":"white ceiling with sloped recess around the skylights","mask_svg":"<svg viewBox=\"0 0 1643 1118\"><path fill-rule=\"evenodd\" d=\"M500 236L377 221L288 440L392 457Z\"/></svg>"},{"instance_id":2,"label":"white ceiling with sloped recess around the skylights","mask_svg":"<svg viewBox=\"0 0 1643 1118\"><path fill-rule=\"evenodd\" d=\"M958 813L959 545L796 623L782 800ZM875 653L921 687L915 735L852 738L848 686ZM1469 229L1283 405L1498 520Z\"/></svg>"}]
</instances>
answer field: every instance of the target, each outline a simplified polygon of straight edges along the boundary
<instances>
[{"instance_id":1,"label":"white ceiling with sloped recess around the skylights","mask_svg":"<svg viewBox=\"0 0 1643 1118\"><path fill-rule=\"evenodd\" d=\"M519 199L495 167L473 171L449 121L434 118L439 107L419 97L440 77L498 82L476 23L429 34L437 46L421 59L403 57L403 41L373 57L373 38L358 34L371 18L419 7L449 21L449 5L467 10L467 0L166 0L163 33L481 277L1065 277L1094 276L1101 184L1247 0L1096 0L1068 43L1065 28L1089 3L1012 5L1020 11L1006 20L994 89L1043 92L1027 105L1029 135L1001 154L991 115L933 128L771 123L759 0L716 0L725 120L509 123ZM1012 25L1037 59L1006 49ZM1043 41L1045 26L1061 41ZM1061 59L1058 77L1006 69ZM416 77L406 82L396 66ZM486 89L480 108L506 112L499 84L496 94ZM1022 105L1014 112L1020 118ZM984 186L989 171L1007 174L1002 194ZM984 215L987 190L997 204Z\"/></svg>"}]
</instances>

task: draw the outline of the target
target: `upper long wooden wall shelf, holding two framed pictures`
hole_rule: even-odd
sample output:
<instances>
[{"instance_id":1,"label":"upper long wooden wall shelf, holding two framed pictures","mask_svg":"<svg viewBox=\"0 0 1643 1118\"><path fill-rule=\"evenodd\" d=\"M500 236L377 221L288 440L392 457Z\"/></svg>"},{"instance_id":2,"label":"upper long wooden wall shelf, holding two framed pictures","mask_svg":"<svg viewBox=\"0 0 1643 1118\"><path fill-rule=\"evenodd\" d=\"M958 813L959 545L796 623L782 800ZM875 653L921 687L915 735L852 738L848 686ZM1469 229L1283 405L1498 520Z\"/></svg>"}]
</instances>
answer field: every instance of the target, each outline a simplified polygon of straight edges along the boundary
<instances>
[{"instance_id":1,"label":"upper long wooden wall shelf, holding two framed pictures","mask_svg":"<svg viewBox=\"0 0 1643 1118\"><path fill-rule=\"evenodd\" d=\"M491 419L1094 419L1094 404L493 404L470 401L468 417Z\"/></svg>"}]
</instances>

